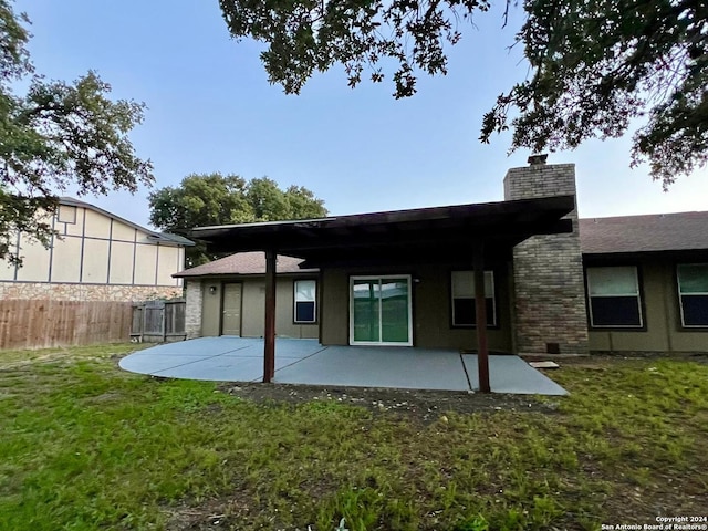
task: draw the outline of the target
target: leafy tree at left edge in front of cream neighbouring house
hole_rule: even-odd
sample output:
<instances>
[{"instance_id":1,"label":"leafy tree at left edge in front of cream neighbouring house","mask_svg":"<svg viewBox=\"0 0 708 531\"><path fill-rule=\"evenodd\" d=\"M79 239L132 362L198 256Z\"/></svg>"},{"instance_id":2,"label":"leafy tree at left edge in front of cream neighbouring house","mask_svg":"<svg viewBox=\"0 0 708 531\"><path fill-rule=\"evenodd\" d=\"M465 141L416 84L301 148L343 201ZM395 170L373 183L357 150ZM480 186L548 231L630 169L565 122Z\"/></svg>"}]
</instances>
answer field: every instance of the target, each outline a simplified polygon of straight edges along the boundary
<instances>
[{"instance_id":1,"label":"leafy tree at left edge in front of cream neighbouring house","mask_svg":"<svg viewBox=\"0 0 708 531\"><path fill-rule=\"evenodd\" d=\"M58 191L135 191L153 181L152 164L127 134L144 105L111 101L94 72L74 83L35 73L25 48L29 19L0 0L0 258L21 262L14 233L49 244ZM20 92L20 87L27 87Z\"/></svg>"}]
</instances>

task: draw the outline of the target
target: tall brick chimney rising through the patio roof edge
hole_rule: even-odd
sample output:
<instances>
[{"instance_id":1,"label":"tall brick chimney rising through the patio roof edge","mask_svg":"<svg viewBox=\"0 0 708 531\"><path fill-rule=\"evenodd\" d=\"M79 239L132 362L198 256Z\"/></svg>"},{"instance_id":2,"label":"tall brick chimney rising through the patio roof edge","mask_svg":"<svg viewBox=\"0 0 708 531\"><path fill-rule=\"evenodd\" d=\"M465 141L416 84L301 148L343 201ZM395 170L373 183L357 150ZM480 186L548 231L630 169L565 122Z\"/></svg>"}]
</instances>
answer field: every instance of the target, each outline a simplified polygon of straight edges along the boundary
<instances>
[{"instance_id":1,"label":"tall brick chimney rising through the patio roof edge","mask_svg":"<svg viewBox=\"0 0 708 531\"><path fill-rule=\"evenodd\" d=\"M575 195L575 165L532 164L511 168L504 177L504 199ZM548 354L589 353L585 287L580 249L577 206L565 219L573 232L534 236L513 251L516 351Z\"/></svg>"}]
</instances>

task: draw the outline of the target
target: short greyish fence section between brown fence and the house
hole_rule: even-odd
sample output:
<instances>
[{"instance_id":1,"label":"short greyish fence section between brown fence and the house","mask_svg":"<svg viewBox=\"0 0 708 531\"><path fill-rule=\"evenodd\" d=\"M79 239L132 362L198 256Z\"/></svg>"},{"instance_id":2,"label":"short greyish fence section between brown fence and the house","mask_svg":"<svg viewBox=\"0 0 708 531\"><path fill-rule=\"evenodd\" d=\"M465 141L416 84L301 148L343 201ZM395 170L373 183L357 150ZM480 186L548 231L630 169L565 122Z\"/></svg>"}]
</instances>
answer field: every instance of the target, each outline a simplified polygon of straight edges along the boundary
<instances>
[{"instance_id":1,"label":"short greyish fence section between brown fence and the house","mask_svg":"<svg viewBox=\"0 0 708 531\"><path fill-rule=\"evenodd\" d=\"M184 341L187 303L178 301L147 301L133 305L131 339L148 343Z\"/></svg>"}]
</instances>

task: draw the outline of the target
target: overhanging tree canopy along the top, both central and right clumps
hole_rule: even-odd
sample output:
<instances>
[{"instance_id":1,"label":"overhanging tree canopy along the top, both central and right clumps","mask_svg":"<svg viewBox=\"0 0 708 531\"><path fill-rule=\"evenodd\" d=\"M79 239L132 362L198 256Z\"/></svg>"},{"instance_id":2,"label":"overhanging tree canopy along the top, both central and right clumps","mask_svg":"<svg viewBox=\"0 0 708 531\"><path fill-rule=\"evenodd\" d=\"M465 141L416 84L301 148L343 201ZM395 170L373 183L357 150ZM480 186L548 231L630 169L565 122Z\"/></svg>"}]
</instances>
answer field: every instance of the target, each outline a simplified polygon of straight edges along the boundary
<instances>
[{"instance_id":1,"label":"overhanging tree canopy along the top, both central and right clumps","mask_svg":"<svg viewBox=\"0 0 708 531\"><path fill-rule=\"evenodd\" d=\"M420 72L445 74L444 46L488 0L219 0L237 38L266 42L271 83L299 93L315 71L343 64L351 86L368 70L396 97ZM506 14L518 2L506 0ZM513 129L511 149L577 147L636 126L632 164L665 186L708 160L708 4L705 0L525 0L516 35L527 80L483 116L482 142ZM504 17L506 17L504 14Z\"/></svg>"}]
</instances>

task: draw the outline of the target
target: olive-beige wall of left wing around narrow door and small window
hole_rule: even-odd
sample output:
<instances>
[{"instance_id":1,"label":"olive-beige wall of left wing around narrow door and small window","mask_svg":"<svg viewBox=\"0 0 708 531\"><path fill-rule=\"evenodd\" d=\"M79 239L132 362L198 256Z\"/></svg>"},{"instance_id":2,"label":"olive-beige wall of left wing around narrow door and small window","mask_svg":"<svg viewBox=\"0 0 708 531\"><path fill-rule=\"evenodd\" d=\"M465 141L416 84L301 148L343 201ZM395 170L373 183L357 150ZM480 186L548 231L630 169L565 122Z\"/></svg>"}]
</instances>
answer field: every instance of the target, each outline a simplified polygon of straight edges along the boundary
<instances>
[{"instance_id":1,"label":"olive-beige wall of left wing around narrow door and small window","mask_svg":"<svg viewBox=\"0 0 708 531\"><path fill-rule=\"evenodd\" d=\"M293 322L293 282L296 279L305 278L312 279L313 277L279 277L277 280L275 335L279 337L316 339L319 336L317 323L296 324ZM189 280L187 282L187 311L189 312L190 309L196 306L196 301L200 294L201 334L205 336L216 336L221 334L221 312L225 283L241 283L242 287L241 336L262 337L266 322L266 279L263 277ZM192 284L195 288L189 288ZM199 285L200 289L197 290L196 285ZM214 293L210 290L211 287L216 288Z\"/></svg>"}]
</instances>

